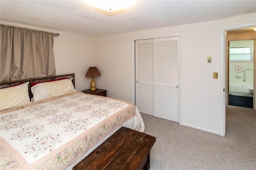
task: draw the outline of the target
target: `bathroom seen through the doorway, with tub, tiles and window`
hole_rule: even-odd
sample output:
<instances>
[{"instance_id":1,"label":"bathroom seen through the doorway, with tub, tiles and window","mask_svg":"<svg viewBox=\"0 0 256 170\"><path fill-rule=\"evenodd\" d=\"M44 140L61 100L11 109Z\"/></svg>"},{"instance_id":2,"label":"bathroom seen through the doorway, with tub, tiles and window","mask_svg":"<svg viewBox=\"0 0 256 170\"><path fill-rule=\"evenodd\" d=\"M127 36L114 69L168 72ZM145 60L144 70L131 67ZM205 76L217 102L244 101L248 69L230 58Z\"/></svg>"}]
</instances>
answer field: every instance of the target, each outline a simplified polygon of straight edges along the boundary
<instances>
[{"instance_id":1,"label":"bathroom seen through the doorway, with tub, tiles and window","mask_svg":"<svg viewBox=\"0 0 256 170\"><path fill-rule=\"evenodd\" d=\"M231 30L226 35L228 105L254 108L255 39L246 30Z\"/></svg>"}]
</instances>

